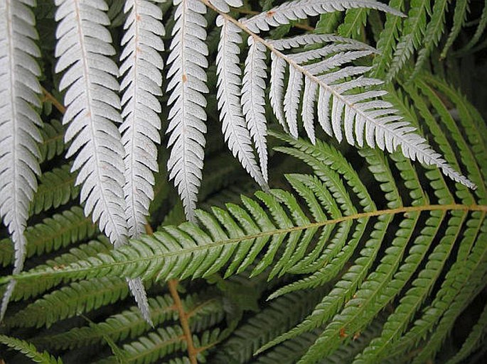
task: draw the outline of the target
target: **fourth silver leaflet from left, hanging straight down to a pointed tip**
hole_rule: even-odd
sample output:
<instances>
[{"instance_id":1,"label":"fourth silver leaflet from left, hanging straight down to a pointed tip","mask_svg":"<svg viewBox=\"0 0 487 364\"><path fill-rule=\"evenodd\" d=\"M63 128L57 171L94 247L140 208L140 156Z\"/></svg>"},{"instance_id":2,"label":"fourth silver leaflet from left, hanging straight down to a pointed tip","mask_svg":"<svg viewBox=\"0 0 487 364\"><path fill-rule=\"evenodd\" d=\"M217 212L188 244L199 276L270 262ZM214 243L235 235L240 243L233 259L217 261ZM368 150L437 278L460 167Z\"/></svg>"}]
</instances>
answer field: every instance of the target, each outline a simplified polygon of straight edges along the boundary
<instances>
[{"instance_id":1,"label":"fourth silver leaflet from left, hanging straight down to a pointed tip","mask_svg":"<svg viewBox=\"0 0 487 364\"><path fill-rule=\"evenodd\" d=\"M206 7L198 0L174 0L176 24L173 28L171 54L168 64L168 91L171 92L167 133L171 133L168 145L171 155L168 160L169 178L174 180L183 200L186 217L195 221L196 195L203 169L203 148L206 133L206 87L205 68L208 48Z\"/></svg>"}]
</instances>

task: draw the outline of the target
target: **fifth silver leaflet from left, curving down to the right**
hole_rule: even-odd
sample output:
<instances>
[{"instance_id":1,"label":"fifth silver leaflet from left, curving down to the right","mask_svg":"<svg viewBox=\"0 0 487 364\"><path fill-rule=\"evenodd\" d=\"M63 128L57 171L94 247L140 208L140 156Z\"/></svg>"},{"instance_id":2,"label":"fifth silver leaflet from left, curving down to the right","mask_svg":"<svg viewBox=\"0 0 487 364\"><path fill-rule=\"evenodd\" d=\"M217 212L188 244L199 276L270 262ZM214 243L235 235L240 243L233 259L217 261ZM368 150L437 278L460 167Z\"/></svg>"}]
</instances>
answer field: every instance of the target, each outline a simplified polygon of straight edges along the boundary
<instances>
[{"instance_id":1,"label":"fifth silver leaflet from left, curving down to the right","mask_svg":"<svg viewBox=\"0 0 487 364\"><path fill-rule=\"evenodd\" d=\"M255 87L247 84L245 89L240 89L241 84L241 71L238 66L240 49L237 44L242 41L240 37L240 29L234 24L227 21L225 18L218 18L218 25L221 26L220 43L218 44L217 55L217 74L218 74L218 109L220 109L220 121L222 122L222 131L225 136L225 141L228 144L228 148L232 151L234 157L238 158L242 166L249 172L254 180L259 183L262 188L267 188L266 177L262 175L262 171L259 169L257 162L255 161L254 151L252 148L252 135L255 136L255 140L259 141L260 155L267 160L267 152L264 153L262 148L265 147L265 138L262 140L262 135L259 136L258 131L262 131L262 115L260 109L258 114L251 116L249 113L250 105L245 106L245 99L250 97L250 92L258 92ZM256 46L257 47L257 46ZM258 48L256 48L257 50ZM258 64L260 65L262 61ZM259 67L259 66L257 66ZM247 68L247 67L246 67ZM250 72L250 71L249 71ZM258 72L258 71L257 71ZM247 73L248 74L248 73ZM262 75L260 70L258 75ZM249 76L252 78L252 76ZM248 79L248 78L247 78ZM246 80L247 80L246 79ZM247 81L248 83L249 81ZM251 87L252 89L248 89ZM246 94L245 99L243 94ZM247 111L246 118L243 117L242 106L240 104L240 96L244 110ZM262 97L262 90L259 98ZM259 101L257 101L259 102ZM252 105L252 109L257 106ZM259 118L257 121L256 118ZM250 126L247 121L250 121ZM265 148L264 148L265 149ZM261 158L261 165L263 159ZM267 162L265 163L267 170Z\"/></svg>"}]
</instances>

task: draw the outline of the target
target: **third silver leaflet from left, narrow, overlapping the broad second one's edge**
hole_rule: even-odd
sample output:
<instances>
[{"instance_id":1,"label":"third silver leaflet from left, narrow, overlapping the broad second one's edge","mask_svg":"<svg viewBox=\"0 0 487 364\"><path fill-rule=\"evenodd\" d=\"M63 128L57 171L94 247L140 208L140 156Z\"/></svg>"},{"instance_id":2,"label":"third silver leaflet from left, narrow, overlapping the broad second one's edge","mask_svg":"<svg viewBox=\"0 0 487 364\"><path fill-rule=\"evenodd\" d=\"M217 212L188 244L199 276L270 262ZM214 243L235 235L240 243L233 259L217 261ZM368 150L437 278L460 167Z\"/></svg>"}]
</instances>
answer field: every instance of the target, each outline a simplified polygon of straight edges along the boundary
<instances>
[{"instance_id":1,"label":"third silver leaflet from left, narrow, overlapping the broad second one's edge","mask_svg":"<svg viewBox=\"0 0 487 364\"><path fill-rule=\"evenodd\" d=\"M162 94L163 61L159 52L164 50L160 37L165 31L161 9L151 1L126 1L124 11L128 13L120 55L124 122L119 129L125 150L129 236L138 238L145 233L149 204L154 199L153 172L158 170L156 143L161 143L161 105L156 96Z\"/></svg>"}]
</instances>

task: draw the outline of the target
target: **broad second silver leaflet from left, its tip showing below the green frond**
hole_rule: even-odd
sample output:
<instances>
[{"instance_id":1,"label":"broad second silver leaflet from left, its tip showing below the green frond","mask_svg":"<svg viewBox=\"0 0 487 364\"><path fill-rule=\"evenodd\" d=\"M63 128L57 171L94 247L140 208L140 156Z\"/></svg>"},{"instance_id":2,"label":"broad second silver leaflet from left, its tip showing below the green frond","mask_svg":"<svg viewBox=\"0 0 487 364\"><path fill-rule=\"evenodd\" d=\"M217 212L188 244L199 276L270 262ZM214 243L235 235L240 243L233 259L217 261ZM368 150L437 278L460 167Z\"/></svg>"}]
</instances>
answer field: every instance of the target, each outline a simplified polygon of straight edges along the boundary
<instances>
[{"instance_id":1,"label":"broad second silver leaflet from left, its tip showing below the green frond","mask_svg":"<svg viewBox=\"0 0 487 364\"><path fill-rule=\"evenodd\" d=\"M126 153L119 129L114 125L122 123L122 117L116 94L119 84L115 77L119 70L109 58L115 51L105 28L109 24L107 5L103 0L57 0L55 4L58 6L55 18L59 22L55 71L65 71L59 87L67 89L63 123L69 123L65 140L71 141L66 156L77 153L72 170L79 170L76 184L82 184L80 200L85 202L85 215L92 214L93 221L98 221L100 230L114 246L122 246L128 235L123 190ZM130 84L127 89L130 91ZM131 101L135 102L130 96L125 101L128 108ZM129 187L137 182L131 180ZM138 279L127 282L150 323L144 285Z\"/></svg>"}]
</instances>

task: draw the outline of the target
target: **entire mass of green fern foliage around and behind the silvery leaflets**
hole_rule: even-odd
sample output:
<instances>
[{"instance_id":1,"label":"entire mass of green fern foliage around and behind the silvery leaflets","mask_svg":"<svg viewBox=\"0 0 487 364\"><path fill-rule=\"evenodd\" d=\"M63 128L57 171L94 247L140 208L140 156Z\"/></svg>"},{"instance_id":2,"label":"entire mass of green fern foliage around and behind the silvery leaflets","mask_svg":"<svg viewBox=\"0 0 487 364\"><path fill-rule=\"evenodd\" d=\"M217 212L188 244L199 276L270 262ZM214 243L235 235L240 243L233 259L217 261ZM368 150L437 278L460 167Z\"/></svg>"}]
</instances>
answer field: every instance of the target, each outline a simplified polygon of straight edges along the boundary
<instances>
[{"instance_id":1,"label":"entire mass of green fern foliage around and behind the silvery leaflets","mask_svg":"<svg viewBox=\"0 0 487 364\"><path fill-rule=\"evenodd\" d=\"M246 1L240 15L229 14L269 11L276 1L259 2L262 8ZM212 91L205 95L208 145L196 223L186 221L168 182L168 153L159 148L147 233L114 248L85 217L73 158L64 159L63 109L46 96L39 108L42 174L19 274L11 274L14 245L1 231L0 293L13 280L16 286L0 326L0 344L14 350L1 350L0 362L23 363L20 352L36 363L483 363L487 126L454 74L467 61L471 72L480 70L487 3L388 4L406 17L348 9L297 19L270 36L314 28L375 45L380 54L341 67L372 65L368 75L387 81L385 101L475 190L400 151L350 148L318 128L314 143L290 137L263 108L272 150L270 188L261 191L224 149ZM121 38L124 2L107 6L109 30ZM173 5L159 7L169 48ZM33 10L38 31L54 36L53 4L39 1ZM214 18L208 9L208 23ZM219 31L208 28L212 62ZM41 83L61 100L51 72L54 43L42 34ZM215 72L210 64L209 84L220 82ZM283 75L287 82L289 72ZM157 97L167 104L166 92ZM164 107L159 116L168 128ZM153 326L129 294L127 279L137 277Z\"/></svg>"}]
</instances>

